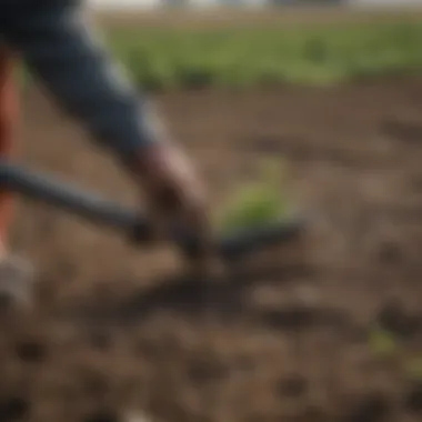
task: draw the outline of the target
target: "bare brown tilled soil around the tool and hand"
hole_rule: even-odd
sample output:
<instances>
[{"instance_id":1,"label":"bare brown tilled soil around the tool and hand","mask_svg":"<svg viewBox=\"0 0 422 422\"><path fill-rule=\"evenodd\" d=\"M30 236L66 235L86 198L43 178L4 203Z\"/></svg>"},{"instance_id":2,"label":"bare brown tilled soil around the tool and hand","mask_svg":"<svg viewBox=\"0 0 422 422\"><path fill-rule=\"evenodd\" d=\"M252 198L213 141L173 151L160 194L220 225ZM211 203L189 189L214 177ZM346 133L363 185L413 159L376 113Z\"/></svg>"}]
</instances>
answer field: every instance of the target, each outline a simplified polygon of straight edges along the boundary
<instances>
[{"instance_id":1,"label":"bare brown tilled soil around the tool and hand","mask_svg":"<svg viewBox=\"0 0 422 422\"><path fill-rule=\"evenodd\" d=\"M16 244L38 265L38 304L1 320L1 421L138 408L172 422L419 421L422 80L158 101L215 208L260 159L285 160L292 198L315 215L305 257L285 250L278 268L203 291L172 277L171 251L24 204ZM24 105L26 163L134 203L38 92ZM400 338L394 355L369 345L375 324Z\"/></svg>"}]
</instances>

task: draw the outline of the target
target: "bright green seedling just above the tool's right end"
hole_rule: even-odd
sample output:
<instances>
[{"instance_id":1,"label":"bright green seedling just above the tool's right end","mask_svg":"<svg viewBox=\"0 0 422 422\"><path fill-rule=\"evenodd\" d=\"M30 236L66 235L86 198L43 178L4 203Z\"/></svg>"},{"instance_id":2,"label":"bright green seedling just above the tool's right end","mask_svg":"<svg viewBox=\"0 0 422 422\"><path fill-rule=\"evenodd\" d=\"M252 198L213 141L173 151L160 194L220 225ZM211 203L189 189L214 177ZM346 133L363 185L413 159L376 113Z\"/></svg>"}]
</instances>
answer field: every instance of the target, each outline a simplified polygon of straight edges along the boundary
<instances>
[{"instance_id":1,"label":"bright green seedling just above the tool's right end","mask_svg":"<svg viewBox=\"0 0 422 422\"><path fill-rule=\"evenodd\" d=\"M243 187L223 209L219 227L229 231L265 224L285 217L289 202L280 188L280 170L279 163L264 163L260 180Z\"/></svg>"}]
</instances>

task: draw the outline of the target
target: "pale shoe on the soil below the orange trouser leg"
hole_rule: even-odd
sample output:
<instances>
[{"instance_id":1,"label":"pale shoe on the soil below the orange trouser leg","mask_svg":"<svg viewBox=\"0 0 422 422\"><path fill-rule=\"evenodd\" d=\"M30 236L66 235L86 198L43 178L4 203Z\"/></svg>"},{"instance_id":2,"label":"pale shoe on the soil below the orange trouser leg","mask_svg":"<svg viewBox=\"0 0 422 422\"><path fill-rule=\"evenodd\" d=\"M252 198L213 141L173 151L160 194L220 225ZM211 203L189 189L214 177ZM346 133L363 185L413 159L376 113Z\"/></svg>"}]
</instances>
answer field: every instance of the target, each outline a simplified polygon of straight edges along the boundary
<instances>
[{"instance_id":1,"label":"pale shoe on the soil below the orange trouser leg","mask_svg":"<svg viewBox=\"0 0 422 422\"><path fill-rule=\"evenodd\" d=\"M0 258L0 310L28 307L32 299L34 271L30 262L16 255Z\"/></svg>"}]
</instances>

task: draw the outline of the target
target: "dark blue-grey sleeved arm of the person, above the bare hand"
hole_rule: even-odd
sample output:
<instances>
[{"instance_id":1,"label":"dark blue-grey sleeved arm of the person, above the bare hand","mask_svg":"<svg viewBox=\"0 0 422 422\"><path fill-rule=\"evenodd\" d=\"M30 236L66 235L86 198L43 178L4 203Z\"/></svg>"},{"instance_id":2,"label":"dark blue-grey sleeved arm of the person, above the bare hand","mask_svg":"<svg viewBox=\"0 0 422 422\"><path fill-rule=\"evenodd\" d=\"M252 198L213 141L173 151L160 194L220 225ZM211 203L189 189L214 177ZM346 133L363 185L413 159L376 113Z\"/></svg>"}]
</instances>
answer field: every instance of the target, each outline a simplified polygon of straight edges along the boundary
<instances>
[{"instance_id":1,"label":"dark blue-grey sleeved arm of the person, above the bare hand","mask_svg":"<svg viewBox=\"0 0 422 422\"><path fill-rule=\"evenodd\" d=\"M155 142L148 105L84 27L78 6L32 3L10 20L4 38L57 102L118 154Z\"/></svg>"}]
</instances>

